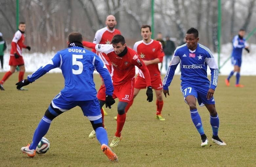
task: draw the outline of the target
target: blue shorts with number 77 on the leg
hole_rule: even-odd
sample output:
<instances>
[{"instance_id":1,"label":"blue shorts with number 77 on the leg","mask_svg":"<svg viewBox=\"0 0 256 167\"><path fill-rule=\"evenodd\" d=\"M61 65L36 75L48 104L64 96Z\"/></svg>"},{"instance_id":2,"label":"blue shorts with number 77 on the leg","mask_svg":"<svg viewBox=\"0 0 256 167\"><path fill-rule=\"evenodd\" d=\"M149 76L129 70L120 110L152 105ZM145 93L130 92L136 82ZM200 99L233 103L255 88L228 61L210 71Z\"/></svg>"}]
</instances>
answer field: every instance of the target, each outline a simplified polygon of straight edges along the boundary
<instances>
[{"instance_id":1,"label":"blue shorts with number 77 on the leg","mask_svg":"<svg viewBox=\"0 0 256 167\"><path fill-rule=\"evenodd\" d=\"M215 104L215 100L213 97L211 97L209 100L206 98L208 90L209 87L195 86L191 84L183 84L181 86L181 92L184 96L184 102L186 102L185 98L188 95L193 95L197 99L200 106L204 106L204 104Z\"/></svg>"}]
</instances>

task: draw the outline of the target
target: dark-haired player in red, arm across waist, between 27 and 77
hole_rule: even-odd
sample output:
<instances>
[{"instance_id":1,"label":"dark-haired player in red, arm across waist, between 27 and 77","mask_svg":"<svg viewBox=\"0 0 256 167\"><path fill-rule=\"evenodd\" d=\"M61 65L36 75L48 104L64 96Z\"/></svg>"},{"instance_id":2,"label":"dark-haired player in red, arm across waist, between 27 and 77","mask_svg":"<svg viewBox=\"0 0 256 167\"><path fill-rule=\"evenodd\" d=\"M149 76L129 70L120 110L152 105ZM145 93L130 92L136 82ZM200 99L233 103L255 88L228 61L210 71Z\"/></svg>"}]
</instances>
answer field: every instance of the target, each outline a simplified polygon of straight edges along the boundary
<instances>
[{"instance_id":1,"label":"dark-haired player in red, arm across waist, between 27 and 77","mask_svg":"<svg viewBox=\"0 0 256 167\"><path fill-rule=\"evenodd\" d=\"M133 49L140 55L140 58L147 66L151 78L152 88L155 89L156 92L156 119L160 121L165 121L165 119L161 115L161 111L163 108L163 85L161 80L161 73L158 68L158 63L161 63L163 61L164 56L162 45L161 42L151 39L152 32L149 25L142 25L140 28L140 33L143 40L136 42L133 46ZM138 95L140 89L145 88L146 80L143 72L139 70L139 74L135 80L134 97L128 103L126 111L128 111L130 106L133 104L133 100Z\"/></svg>"}]
</instances>

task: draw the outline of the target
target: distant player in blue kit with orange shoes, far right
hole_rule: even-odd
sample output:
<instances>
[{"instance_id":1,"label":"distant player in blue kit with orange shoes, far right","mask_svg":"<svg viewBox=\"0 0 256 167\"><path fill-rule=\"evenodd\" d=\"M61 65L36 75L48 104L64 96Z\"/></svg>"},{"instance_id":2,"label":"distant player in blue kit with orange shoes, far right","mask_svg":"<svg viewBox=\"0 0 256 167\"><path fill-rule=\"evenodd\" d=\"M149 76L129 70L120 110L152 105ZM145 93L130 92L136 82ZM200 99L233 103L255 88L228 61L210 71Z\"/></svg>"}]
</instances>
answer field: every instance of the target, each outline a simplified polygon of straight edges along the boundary
<instances>
[{"instance_id":1,"label":"distant player in blue kit with orange shoes, far right","mask_svg":"<svg viewBox=\"0 0 256 167\"><path fill-rule=\"evenodd\" d=\"M233 51L232 51L232 56L231 56L231 62L232 65L234 65L234 70L232 70L229 74L229 76L225 79L225 84L229 86L229 79L233 76L233 74L236 72L236 87L244 87L244 85L239 84L240 80L240 68L242 64L242 51L243 48L249 53L249 46L245 41L245 30L240 29L238 32L238 35L236 35L233 38Z\"/></svg>"}]
</instances>

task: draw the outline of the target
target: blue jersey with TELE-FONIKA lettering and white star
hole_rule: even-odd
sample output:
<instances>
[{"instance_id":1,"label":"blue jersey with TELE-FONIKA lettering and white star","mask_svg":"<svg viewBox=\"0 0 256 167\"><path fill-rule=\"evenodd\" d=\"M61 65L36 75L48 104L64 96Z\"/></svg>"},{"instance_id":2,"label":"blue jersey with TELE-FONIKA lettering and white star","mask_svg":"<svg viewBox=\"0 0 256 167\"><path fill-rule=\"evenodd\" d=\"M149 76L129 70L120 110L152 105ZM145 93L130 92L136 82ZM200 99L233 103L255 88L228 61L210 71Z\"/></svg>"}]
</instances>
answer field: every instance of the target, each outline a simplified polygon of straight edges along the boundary
<instances>
[{"instance_id":1,"label":"blue jersey with TELE-FONIKA lettering and white star","mask_svg":"<svg viewBox=\"0 0 256 167\"><path fill-rule=\"evenodd\" d=\"M186 44L176 48L163 79L164 90L168 90L179 63L181 65L181 85L207 86L215 90L218 81L218 65L210 49L201 44L197 44L195 50L188 49ZM211 83L207 78L207 65L211 70Z\"/></svg>"}]
</instances>

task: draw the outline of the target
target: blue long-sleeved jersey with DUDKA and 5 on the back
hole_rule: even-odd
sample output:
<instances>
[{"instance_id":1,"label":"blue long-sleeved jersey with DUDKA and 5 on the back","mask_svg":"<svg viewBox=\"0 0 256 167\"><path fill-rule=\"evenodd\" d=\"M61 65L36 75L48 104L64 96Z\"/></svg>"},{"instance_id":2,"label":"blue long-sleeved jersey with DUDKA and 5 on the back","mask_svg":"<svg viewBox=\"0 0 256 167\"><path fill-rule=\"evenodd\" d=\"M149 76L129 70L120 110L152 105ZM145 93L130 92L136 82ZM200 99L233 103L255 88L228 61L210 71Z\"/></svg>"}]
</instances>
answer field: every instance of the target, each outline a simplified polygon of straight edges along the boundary
<instances>
[{"instance_id":1,"label":"blue long-sleeved jersey with DUDKA and 5 on the back","mask_svg":"<svg viewBox=\"0 0 256 167\"><path fill-rule=\"evenodd\" d=\"M83 47L73 46L58 51L50 62L29 75L28 81L32 83L57 67L62 70L65 79L65 86L60 91L65 100L86 101L96 99L97 91L93 81L95 69L104 80L106 95L112 96L114 88L108 69L95 53Z\"/></svg>"}]
</instances>

